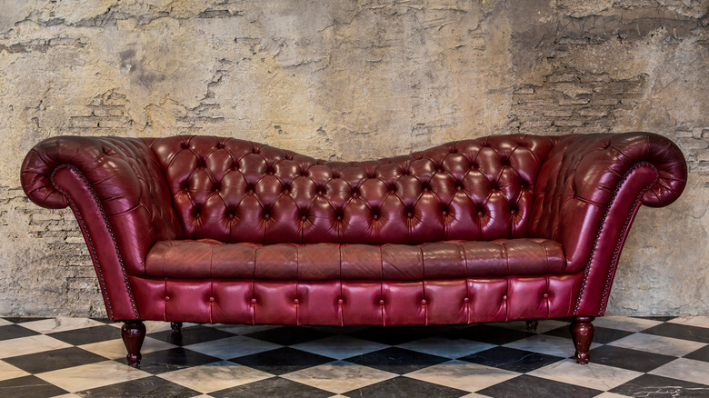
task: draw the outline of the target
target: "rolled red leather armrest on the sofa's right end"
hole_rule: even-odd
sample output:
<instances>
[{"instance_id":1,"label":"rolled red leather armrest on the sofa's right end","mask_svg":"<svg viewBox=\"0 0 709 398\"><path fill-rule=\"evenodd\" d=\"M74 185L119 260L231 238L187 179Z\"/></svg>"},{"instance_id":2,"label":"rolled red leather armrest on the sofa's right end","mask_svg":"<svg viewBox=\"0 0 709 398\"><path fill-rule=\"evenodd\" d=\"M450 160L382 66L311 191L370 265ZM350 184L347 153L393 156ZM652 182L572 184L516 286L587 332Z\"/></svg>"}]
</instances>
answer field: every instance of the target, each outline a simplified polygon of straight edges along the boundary
<instances>
[{"instance_id":1,"label":"rolled red leather armrest on the sofa's right end","mask_svg":"<svg viewBox=\"0 0 709 398\"><path fill-rule=\"evenodd\" d=\"M584 270L576 315L604 313L640 204L673 203L686 178L684 155L658 134L560 137L537 177L527 234L560 242L568 269Z\"/></svg>"}]
</instances>

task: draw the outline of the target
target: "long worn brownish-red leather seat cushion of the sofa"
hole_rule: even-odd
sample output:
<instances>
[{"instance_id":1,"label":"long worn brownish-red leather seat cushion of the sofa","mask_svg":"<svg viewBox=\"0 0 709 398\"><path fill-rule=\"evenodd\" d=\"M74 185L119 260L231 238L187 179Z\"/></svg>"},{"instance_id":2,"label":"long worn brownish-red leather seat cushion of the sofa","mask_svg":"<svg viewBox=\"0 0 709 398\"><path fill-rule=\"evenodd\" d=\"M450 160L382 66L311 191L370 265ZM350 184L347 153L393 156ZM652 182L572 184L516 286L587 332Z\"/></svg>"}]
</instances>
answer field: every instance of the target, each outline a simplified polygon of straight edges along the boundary
<instances>
[{"instance_id":1,"label":"long worn brownish-red leather seat cushion of the sofa","mask_svg":"<svg viewBox=\"0 0 709 398\"><path fill-rule=\"evenodd\" d=\"M145 274L177 278L422 280L564 274L561 244L545 239L431 244L225 244L211 239L156 243Z\"/></svg>"}]
</instances>

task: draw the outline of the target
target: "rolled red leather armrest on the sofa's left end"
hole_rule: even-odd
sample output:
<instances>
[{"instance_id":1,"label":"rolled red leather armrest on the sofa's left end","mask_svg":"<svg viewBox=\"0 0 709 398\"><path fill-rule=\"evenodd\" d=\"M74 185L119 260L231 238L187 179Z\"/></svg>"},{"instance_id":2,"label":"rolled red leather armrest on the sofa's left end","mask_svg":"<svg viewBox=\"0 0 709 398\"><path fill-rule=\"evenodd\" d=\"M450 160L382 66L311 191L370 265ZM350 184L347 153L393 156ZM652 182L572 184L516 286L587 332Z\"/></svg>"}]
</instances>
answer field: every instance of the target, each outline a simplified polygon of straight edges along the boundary
<instances>
[{"instance_id":1,"label":"rolled red leather armrest on the sofa's left end","mask_svg":"<svg viewBox=\"0 0 709 398\"><path fill-rule=\"evenodd\" d=\"M183 234L165 174L145 140L50 138L25 156L21 179L35 204L74 211L109 317L137 318L127 274L145 274L150 247Z\"/></svg>"}]
</instances>

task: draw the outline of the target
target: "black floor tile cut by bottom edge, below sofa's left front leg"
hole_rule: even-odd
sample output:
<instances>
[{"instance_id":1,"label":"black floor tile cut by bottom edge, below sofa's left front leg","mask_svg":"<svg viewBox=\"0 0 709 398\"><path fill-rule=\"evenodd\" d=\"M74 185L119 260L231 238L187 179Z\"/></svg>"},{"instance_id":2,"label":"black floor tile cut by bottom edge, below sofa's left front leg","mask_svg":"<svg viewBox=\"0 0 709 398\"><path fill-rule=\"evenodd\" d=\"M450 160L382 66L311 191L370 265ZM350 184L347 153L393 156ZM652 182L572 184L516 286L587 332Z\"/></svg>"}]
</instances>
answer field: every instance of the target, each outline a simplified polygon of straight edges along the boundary
<instances>
[{"instance_id":1,"label":"black floor tile cut by bottom edge, below sofa's left front leg","mask_svg":"<svg viewBox=\"0 0 709 398\"><path fill-rule=\"evenodd\" d=\"M182 398L201 395L201 393L191 390L180 384L168 382L160 377L150 376L143 379L132 380L130 382L115 383L98 387L91 390L85 390L76 395L83 397L96 398L133 398L133 397L150 397L150 398Z\"/></svg>"}]
</instances>

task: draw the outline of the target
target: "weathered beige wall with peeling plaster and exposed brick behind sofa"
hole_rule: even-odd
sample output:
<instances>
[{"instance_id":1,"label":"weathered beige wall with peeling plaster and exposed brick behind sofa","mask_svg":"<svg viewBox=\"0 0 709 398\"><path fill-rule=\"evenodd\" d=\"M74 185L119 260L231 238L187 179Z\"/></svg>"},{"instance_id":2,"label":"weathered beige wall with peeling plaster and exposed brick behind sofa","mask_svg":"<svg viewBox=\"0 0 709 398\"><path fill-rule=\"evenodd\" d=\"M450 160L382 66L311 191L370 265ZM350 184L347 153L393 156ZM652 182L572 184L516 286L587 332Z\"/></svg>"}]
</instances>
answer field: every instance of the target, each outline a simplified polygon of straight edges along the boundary
<instances>
[{"instance_id":1,"label":"weathered beige wall with peeling plaster and exposed brick behind sofa","mask_svg":"<svg viewBox=\"0 0 709 398\"><path fill-rule=\"evenodd\" d=\"M0 0L0 314L102 315L56 134L218 134L355 160L486 134L654 131L690 182L644 209L609 313L709 313L706 0Z\"/></svg>"}]
</instances>

